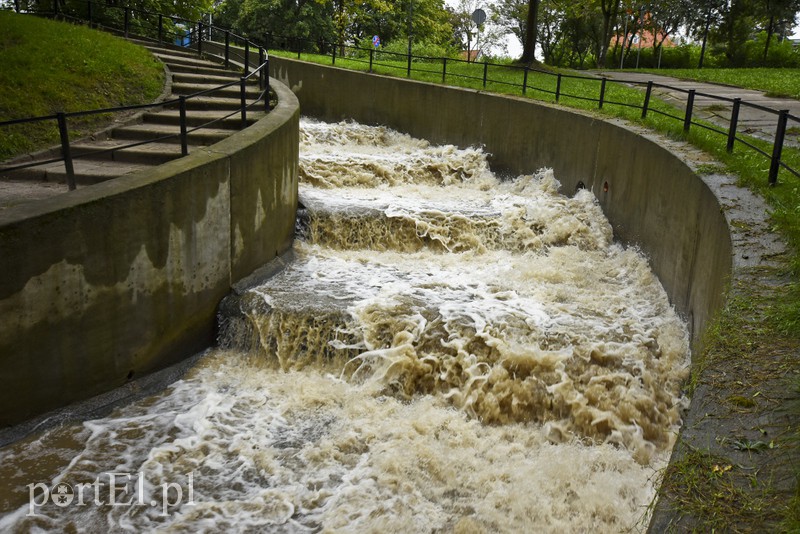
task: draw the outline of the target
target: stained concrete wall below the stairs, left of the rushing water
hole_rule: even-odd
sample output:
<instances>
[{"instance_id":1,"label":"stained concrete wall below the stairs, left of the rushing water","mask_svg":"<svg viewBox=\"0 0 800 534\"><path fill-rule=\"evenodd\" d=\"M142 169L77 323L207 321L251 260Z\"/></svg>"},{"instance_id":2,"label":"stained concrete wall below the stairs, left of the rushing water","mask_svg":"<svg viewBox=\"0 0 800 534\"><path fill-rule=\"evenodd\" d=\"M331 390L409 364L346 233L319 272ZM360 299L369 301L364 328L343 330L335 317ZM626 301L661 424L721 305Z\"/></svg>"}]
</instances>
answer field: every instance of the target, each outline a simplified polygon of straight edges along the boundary
<instances>
[{"instance_id":1,"label":"stained concrete wall below the stairs, left of the rushing water","mask_svg":"<svg viewBox=\"0 0 800 534\"><path fill-rule=\"evenodd\" d=\"M220 143L0 212L0 427L206 349L231 284L291 246L299 108L271 83Z\"/></svg>"}]
</instances>

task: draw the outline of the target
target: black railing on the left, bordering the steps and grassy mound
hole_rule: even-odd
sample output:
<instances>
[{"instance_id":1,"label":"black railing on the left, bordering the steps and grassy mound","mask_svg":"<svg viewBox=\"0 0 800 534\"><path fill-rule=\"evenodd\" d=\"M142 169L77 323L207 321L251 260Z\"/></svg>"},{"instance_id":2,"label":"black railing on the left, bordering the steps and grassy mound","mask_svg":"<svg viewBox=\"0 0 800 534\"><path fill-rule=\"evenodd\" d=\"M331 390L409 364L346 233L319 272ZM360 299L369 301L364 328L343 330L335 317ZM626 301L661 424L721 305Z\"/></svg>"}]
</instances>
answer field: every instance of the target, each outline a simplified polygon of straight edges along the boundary
<instances>
[{"instance_id":1,"label":"black railing on the left, bordering the steps and grassy mound","mask_svg":"<svg viewBox=\"0 0 800 534\"><path fill-rule=\"evenodd\" d=\"M67 185L70 190L74 190L76 188L76 182L73 161L76 159L96 157L104 153L173 139L179 140L181 155L186 156L189 153L189 134L204 128L212 127L236 115L241 117L240 127L244 129L247 127L247 112L249 109L255 109L257 106L260 106L264 111L270 111L269 58L266 49L245 37L233 34L225 28L203 24L202 22L191 23L179 17L169 17L159 13L151 13L130 7L109 6L92 0L77 0L68 3L64 3L62 0L53 0L52 4L49 2L25 2L23 0L15 0L14 9L17 13L56 17L77 22L88 22L93 27L115 31L125 37L137 37L150 40L160 45L173 44L185 49L194 49L197 51L198 55L217 57L224 62L226 68L232 68L234 66L241 67L242 75L238 80L230 83L221 84L192 94L181 95L177 98L152 104L118 106L69 113L58 112L41 117L2 121L0 122L0 132L2 132L4 128L20 124L54 121L59 133L60 155L58 157L43 156L44 159L37 158L25 162L18 161L19 158L17 158L0 165L0 172L7 173L63 161L67 176ZM203 50L204 42L207 42L212 36L217 35L224 36L225 39L224 54L220 56L206 53ZM240 45L241 48L238 48L237 45ZM258 64L253 65L252 68L252 54L250 50L257 50L259 58ZM247 86L252 80L257 80L259 93L257 98L248 100ZM239 88L241 105L238 109L224 116L189 128L187 121L187 102L189 100L207 96L234 86ZM175 106L177 106L179 110L179 125L174 134L118 145L111 148L88 150L79 154L72 153L69 135L69 120L72 118L130 111L145 111L148 109L161 109Z\"/></svg>"}]
</instances>

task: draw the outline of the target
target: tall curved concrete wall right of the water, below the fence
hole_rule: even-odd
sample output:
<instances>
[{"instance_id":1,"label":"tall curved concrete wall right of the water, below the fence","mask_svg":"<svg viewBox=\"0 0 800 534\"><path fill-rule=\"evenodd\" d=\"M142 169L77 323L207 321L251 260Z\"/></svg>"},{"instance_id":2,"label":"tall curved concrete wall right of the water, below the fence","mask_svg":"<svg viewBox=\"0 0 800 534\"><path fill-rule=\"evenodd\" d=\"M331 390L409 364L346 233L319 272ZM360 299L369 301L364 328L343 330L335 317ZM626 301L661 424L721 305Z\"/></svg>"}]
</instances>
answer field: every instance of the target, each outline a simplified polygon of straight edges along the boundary
<instances>
[{"instance_id":1,"label":"tall curved concrete wall right of the water, below the fence","mask_svg":"<svg viewBox=\"0 0 800 534\"><path fill-rule=\"evenodd\" d=\"M433 143L482 146L501 172L552 168L567 194L581 182L599 199L617 239L649 257L695 341L721 305L732 269L725 216L709 186L663 140L525 98L275 56L270 69L295 92L303 115L383 124Z\"/></svg>"}]
</instances>

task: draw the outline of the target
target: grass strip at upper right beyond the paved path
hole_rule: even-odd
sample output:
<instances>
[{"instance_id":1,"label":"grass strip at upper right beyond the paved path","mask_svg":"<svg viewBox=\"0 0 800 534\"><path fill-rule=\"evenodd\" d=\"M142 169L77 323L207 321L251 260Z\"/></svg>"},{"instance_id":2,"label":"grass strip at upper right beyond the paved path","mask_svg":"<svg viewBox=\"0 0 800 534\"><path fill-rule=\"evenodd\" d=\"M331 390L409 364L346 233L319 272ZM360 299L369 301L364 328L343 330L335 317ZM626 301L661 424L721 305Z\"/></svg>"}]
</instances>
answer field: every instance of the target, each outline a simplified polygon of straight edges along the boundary
<instances>
[{"instance_id":1,"label":"grass strip at upper right beyond the paved path","mask_svg":"<svg viewBox=\"0 0 800 534\"><path fill-rule=\"evenodd\" d=\"M800 69L644 69L637 72L721 83L764 91L768 96L800 99Z\"/></svg>"}]
</instances>

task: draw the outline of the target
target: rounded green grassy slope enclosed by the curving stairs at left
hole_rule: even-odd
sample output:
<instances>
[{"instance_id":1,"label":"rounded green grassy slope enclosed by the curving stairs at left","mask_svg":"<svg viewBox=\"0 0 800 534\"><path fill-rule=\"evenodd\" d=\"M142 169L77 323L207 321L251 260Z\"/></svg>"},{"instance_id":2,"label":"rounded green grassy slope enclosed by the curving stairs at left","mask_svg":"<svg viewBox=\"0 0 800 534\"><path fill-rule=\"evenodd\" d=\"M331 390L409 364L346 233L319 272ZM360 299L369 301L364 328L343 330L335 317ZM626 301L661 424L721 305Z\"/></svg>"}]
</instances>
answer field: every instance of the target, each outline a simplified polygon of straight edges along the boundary
<instances>
[{"instance_id":1,"label":"rounded green grassy slope enclosed by the curving stairs at left","mask_svg":"<svg viewBox=\"0 0 800 534\"><path fill-rule=\"evenodd\" d=\"M111 34L0 11L0 122L63 111L152 102L164 87L161 63ZM75 139L108 116L69 120ZM55 120L3 127L0 160L58 144Z\"/></svg>"}]
</instances>

